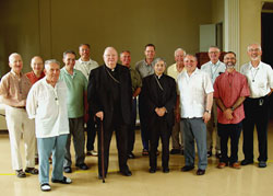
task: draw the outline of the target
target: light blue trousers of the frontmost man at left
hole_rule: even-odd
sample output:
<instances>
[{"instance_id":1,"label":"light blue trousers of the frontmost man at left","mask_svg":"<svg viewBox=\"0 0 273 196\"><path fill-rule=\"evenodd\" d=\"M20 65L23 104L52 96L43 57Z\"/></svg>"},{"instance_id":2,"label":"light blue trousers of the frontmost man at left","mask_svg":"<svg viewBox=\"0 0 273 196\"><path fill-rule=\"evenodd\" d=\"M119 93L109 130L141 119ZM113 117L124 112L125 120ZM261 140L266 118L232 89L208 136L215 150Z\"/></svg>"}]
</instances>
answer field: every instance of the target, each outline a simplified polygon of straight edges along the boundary
<instances>
[{"instance_id":1,"label":"light blue trousers of the frontmost man at left","mask_svg":"<svg viewBox=\"0 0 273 196\"><path fill-rule=\"evenodd\" d=\"M49 162L52 153L52 176L55 180L63 178L63 160L68 135L50 138L37 138L39 153L39 183L49 183Z\"/></svg>"}]
</instances>

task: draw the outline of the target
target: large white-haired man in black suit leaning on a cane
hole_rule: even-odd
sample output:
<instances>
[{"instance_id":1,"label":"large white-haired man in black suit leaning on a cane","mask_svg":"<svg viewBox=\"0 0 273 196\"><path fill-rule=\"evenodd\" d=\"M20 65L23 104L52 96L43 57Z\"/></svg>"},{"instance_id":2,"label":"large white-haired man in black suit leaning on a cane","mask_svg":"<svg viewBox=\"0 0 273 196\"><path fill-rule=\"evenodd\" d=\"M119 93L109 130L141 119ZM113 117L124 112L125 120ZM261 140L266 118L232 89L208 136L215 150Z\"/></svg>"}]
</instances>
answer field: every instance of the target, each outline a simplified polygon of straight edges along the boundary
<instances>
[{"instance_id":1,"label":"large white-haired man in black suit leaning on a cane","mask_svg":"<svg viewBox=\"0 0 273 196\"><path fill-rule=\"evenodd\" d=\"M120 173L131 176L132 173L127 165L127 130L131 123L132 105L130 71L117 64L118 53L114 47L107 47L103 57L105 65L91 71L87 89L91 116L102 120L104 131L98 134L98 177L104 180L107 175L114 130Z\"/></svg>"}]
</instances>

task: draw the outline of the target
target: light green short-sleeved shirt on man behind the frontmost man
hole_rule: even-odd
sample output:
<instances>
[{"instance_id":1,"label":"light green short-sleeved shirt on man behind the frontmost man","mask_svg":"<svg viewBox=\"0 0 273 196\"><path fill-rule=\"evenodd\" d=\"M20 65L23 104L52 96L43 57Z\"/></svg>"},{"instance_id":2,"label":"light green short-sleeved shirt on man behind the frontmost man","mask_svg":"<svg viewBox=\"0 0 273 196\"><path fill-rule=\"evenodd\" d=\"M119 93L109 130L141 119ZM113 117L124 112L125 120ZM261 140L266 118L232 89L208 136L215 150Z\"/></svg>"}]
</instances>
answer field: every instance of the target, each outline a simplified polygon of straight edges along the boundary
<instances>
[{"instance_id":1,"label":"light green short-sleeved shirt on man behind the frontmost man","mask_svg":"<svg viewBox=\"0 0 273 196\"><path fill-rule=\"evenodd\" d=\"M61 69L60 80L68 87L68 117L78 118L84 115L84 93L87 90L87 80L84 74L74 69L71 76L66 67Z\"/></svg>"}]
</instances>

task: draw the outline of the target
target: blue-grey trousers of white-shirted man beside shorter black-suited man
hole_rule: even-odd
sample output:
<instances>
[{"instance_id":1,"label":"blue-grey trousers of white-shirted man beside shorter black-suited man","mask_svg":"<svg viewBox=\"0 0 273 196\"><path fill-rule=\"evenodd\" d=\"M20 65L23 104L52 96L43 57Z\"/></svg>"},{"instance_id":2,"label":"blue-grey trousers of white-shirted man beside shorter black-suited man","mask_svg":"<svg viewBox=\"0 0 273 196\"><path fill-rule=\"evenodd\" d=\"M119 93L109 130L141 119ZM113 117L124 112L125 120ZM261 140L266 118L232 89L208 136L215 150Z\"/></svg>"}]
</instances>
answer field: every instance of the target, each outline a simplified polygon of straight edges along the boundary
<instances>
[{"instance_id":1,"label":"blue-grey trousers of white-shirted man beside shorter black-suited man","mask_svg":"<svg viewBox=\"0 0 273 196\"><path fill-rule=\"evenodd\" d=\"M206 157L206 126L202 118L182 118L183 124L183 153L185 164L194 166L195 149L194 139L198 146L198 168L205 170Z\"/></svg>"}]
</instances>

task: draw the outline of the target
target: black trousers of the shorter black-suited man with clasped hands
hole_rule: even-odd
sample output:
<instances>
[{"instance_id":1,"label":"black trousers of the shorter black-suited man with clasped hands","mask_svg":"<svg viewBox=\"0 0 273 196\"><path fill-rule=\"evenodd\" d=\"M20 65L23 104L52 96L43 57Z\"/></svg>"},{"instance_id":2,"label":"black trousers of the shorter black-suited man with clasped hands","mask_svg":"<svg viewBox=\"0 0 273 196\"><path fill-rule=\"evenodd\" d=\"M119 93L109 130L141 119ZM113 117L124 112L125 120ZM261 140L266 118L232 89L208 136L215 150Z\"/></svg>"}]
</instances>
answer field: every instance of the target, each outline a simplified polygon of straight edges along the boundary
<instances>
[{"instance_id":1,"label":"black trousers of the shorter black-suited man with clasped hands","mask_svg":"<svg viewBox=\"0 0 273 196\"><path fill-rule=\"evenodd\" d=\"M156 117L157 119L151 125L150 128L150 168L156 170L156 151L159 138L162 140L162 166L167 169L169 162L169 138L171 128L167 126L165 117Z\"/></svg>"}]
</instances>

